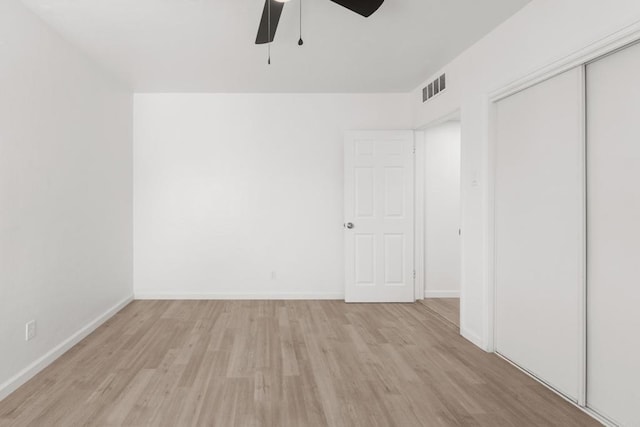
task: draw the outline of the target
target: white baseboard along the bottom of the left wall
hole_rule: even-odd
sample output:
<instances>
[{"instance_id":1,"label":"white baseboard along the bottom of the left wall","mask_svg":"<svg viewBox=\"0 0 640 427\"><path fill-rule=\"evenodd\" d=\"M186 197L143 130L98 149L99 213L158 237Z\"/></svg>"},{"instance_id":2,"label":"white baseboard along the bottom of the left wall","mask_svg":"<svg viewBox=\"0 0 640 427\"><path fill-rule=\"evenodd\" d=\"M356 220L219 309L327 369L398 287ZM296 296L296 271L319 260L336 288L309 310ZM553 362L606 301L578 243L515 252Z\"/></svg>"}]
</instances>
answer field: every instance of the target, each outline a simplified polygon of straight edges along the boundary
<instances>
[{"instance_id":1,"label":"white baseboard along the bottom of the left wall","mask_svg":"<svg viewBox=\"0 0 640 427\"><path fill-rule=\"evenodd\" d=\"M124 300L120 301L119 303L102 313L100 316L95 318L88 325L84 326L69 338L48 351L44 356L40 357L38 360L24 368L22 371L18 372L12 378L9 378L3 384L0 384L0 400L16 391L18 387L33 378L38 372L49 366L58 357L62 356L69 349L71 349L71 347L86 338L91 332L98 329L100 325L113 317L131 301L133 301L133 296L127 297Z\"/></svg>"}]
</instances>

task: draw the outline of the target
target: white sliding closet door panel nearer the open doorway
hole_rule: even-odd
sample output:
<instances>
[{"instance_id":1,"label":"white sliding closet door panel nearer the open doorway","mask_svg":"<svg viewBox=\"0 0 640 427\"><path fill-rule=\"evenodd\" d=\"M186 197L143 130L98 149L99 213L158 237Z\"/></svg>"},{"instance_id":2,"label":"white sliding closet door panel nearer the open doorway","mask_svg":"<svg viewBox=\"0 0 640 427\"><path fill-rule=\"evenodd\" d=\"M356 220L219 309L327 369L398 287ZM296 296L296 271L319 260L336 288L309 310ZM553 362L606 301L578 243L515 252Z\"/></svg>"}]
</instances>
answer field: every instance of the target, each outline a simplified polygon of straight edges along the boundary
<instances>
[{"instance_id":1,"label":"white sliding closet door panel nearer the open doorway","mask_svg":"<svg viewBox=\"0 0 640 427\"><path fill-rule=\"evenodd\" d=\"M497 351L567 397L582 377L583 73L496 105Z\"/></svg>"}]
</instances>

